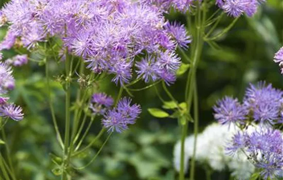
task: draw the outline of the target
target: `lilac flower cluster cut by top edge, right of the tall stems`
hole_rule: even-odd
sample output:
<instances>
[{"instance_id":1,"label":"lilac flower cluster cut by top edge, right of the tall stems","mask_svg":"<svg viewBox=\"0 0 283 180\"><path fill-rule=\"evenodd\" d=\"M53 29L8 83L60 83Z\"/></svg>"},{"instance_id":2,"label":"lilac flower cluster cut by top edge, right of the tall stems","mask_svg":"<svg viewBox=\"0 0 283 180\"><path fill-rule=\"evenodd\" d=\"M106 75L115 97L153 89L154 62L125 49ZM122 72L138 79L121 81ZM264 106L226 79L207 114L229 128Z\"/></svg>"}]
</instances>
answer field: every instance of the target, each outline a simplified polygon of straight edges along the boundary
<instances>
[{"instance_id":1,"label":"lilac flower cluster cut by top edge, right of the tall stems","mask_svg":"<svg viewBox=\"0 0 283 180\"><path fill-rule=\"evenodd\" d=\"M253 16L260 3L265 2L260 0L216 0L219 8L223 9L228 15L239 17L242 14Z\"/></svg>"}]
</instances>

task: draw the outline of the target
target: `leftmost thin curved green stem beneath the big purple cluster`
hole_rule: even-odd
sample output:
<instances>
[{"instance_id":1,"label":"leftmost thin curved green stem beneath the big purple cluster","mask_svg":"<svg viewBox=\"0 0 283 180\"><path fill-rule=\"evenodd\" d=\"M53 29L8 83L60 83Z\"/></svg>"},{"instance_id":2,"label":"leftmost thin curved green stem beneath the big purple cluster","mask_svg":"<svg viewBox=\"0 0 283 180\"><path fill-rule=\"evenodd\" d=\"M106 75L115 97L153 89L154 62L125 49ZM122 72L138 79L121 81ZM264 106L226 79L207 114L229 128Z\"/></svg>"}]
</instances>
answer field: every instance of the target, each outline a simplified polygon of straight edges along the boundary
<instances>
[{"instance_id":1,"label":"leftmost thin curved green stem beneath the big purple cluster","mask_svg":"<svg viewBox=\"0 0 283 180\"><path fill-rule=\"evenodd\" d=\"M46 88L47 88L47 94L48 94L48 103L49 103L49 108L50 108L50 111L51 111L51 116L52 116L52 121L53 121L54 128L55 128L55 132L56 132L59 144L63 148L63 146L64 146L63 140L62 140L62 137L60 135L60 131L59 131L59 128L58 128L54 108L53 108L53 105L52 105L52 98L51 98L51 92L50 92L50 79L49 79L49 70L48 69L49 69L49 65L48 65L48 62L46 61L46 63L45 63L45 76L46 76L46 82L47 82Z\"/></svg>"}]
</instances>

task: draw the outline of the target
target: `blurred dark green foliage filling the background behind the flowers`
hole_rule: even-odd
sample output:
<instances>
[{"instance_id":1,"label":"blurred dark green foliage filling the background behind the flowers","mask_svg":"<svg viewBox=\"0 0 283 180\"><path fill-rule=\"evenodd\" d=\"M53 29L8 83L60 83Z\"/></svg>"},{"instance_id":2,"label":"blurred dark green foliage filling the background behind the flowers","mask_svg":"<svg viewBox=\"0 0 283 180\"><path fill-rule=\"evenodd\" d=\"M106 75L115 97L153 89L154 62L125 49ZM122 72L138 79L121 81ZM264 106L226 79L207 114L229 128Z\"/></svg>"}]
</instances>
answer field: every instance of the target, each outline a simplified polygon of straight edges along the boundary
<instances>
[{"instance_id":1,"label":"blurred dark green foliage filling the background behind the flowers","mask_svg":"<svg viewBox=\"0 0 283 180\"><path fill-rule=\"evenodd\" d=\"M4 1L1 1L1 7ZM211 9L211 12L216 9ZM172 12L167 15L170 21L185 23L182 14ZM219 28L226 27L233 19L225 17ZM6 33L0 30L0 38ZM242 16L235 27L217 41L220 48L211 48L205 44L197 73L199 91L200 129L214 121L211 106L224 95L242 98L245 87L251 82L266 80L278 88L283 88L283 77L273 60L274 53L283 42L283 2L269 0L253 18ZM3 51L5 59L16 54L15 51ZM189 52L188 52L189 53ZM50 64L51 73L56 76L58 66ZM10 120L5 130L8 135L12 160L17 177L26 180L60 179L55 174L56 165L51 161L52 154L60 154L51 115L46 100L47 92L44 80L44 66L29 62L23 67L15 67L16 88L11 94L12 101L24 107L25 119L21 122ZM101 91L113 97L118 88L111 79L99 84ZM182 102L186 75L178 78L169 87L174 97ZM138 87L145 84L140 83ZM57 82L52 83L55 97L56 116L60 130L64 130L64 93ZM158 86L164 98L165 92ZM127 94L124 94L125 96ZM133 92L133 101L143 108L141 117L135 125L122 134L115 133L107 143L97 160L82 171L75 172L74 179L175 179L177 176L172 165L173 146L180 139L180 129L176 119L157 119L147 109L161 107L154 88L138 93ZM74 94L75 96L75 94ZM167 99L169 100L169 99ZM101 123L96 119L92 131L87 137L91 141L99 132ZM193 131L189 124L189 134ZM105 137L104 137L105 138ZM74 161L77 166L86 164L93 157L102 142ZM0 145L1 151L3 146ZM54 169L52 172L51 170ZM188 176L188 174L187 174ZM229 172L214 172L212 179L228 179ZM204 179L201 165L197 165L196 179Z\"/></svg>"}]
</instances>

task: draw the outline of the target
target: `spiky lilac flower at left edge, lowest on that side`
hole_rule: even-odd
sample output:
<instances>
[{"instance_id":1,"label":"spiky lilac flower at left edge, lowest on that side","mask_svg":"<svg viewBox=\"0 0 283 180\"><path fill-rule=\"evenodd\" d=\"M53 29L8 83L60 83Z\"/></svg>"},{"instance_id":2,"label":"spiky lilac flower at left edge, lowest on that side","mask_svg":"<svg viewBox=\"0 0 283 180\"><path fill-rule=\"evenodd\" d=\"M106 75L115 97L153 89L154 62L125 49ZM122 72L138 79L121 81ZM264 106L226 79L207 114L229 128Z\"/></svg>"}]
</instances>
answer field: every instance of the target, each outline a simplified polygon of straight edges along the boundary
<instances>
[{"instance_id":1,"label":"spiky lilac flower at left edge, lowest on that side","mask_svg":"<svg viewBox=\"0 0 283 180\"><path fill-rule=\"evenodd\" d=\"M11 118L15 121L20 121L24 118L22 107L15 104L6 104L0 106L0 116Z\"/></svg>"}]
</instances>

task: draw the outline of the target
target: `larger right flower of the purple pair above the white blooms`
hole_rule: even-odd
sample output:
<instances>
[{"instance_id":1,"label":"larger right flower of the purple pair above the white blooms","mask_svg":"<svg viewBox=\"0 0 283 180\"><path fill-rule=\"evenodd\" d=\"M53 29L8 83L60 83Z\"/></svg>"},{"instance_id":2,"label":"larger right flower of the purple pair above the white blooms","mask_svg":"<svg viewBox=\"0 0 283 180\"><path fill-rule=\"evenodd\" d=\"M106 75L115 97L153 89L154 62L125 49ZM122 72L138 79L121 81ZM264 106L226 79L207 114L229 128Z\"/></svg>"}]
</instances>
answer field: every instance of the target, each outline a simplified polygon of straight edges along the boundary
<instances>
[{"instance_id":1,"label":"larger right flower of the purple pair above the white blooms","mask_svg":"<svg viewBox=\"0 0 283 180\"><path fill-rule=\"evenodd\" d=\"M251 84L246 89L244 106L253 112L254 120L261 124L277 123L282 102L283 92L271 84L266 86L265 82L259 82L257 86Z\"/></svg>"}]
</instances>

